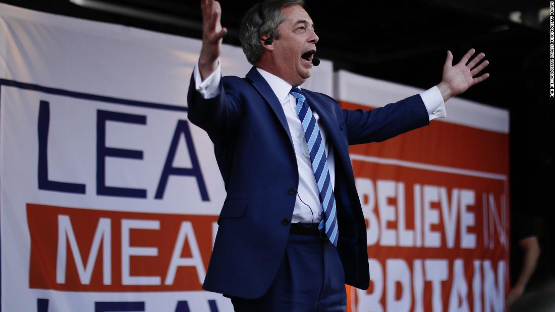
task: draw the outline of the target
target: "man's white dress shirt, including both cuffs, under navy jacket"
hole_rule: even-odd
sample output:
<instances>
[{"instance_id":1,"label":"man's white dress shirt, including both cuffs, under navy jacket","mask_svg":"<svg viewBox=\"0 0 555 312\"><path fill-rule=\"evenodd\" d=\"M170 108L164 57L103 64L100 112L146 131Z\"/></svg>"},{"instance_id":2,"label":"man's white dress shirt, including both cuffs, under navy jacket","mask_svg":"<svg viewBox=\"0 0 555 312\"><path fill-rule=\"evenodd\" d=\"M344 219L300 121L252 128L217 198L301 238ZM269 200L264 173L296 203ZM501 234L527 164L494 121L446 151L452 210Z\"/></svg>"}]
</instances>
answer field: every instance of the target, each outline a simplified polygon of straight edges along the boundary
<instances>
[{"instance_id":1,"label":"man's white dress shirt, including both cuffs, under navy jacket","mask_svg":"<svg viewBox=\"0 0 555 312\"><path fill-rule=\"evenodd\" d=\"M322 208L318 186L316 185L316 178L312 171L312 163L310 161L304 130L302 129L301 121L297 115L296 99L289 93L292 86L278 76L268 73L268 71L260 68L256 69L270 85L270 88L274 91L281 103L281 108L284 110L287 126L289 126L293 147L295 149L297 169L299 170L299 186L297 187L297 198L291 223L320 223L322 219ZM202 81L200 77L198 65L195 66L194 76L195 88L205 99L214 98L214 96L218 95L218 86L221 79L221 68L219 63L214 73L208 76L204 81ZM300 87L297 88L300 89ZM430 120L436 117L446 116L445 103L443 103L443 97L436 86L422 92L420 96L426 106ZM326 130L319 121L318 114L315 111L312 111L312 113L320 127L322 141L326 142L324 147L327 165L330 170L331 185L335 187L335 161L333 149L330 149L330 142L326 140Z\"/></svg>"}]
</instances>

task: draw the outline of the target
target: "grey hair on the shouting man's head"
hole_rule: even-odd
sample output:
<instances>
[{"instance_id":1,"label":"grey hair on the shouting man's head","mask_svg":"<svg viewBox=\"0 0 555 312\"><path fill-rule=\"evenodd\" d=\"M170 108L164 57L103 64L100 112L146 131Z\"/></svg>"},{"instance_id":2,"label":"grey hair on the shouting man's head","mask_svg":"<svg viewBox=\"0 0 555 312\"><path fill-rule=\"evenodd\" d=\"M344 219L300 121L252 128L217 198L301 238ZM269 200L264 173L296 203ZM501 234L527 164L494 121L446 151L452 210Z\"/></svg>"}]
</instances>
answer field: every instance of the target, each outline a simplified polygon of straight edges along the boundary
<instances>
[{"instance_id":1,"label":"grey hair on the shouting man's head","mask_svg":"<svg viewBox=\"0 0 555 312\"><path fill-rule=\"evenodd\" d=\"M264 48L260 43L260 36L268 34L272 39L279 39L278 27L285 20L281 9L299 4L304 7L304 0L266 0L256 3L246 12L239 28L239 39L246 59L251 64L260 60Z\"/></svg>"}]
</instances>

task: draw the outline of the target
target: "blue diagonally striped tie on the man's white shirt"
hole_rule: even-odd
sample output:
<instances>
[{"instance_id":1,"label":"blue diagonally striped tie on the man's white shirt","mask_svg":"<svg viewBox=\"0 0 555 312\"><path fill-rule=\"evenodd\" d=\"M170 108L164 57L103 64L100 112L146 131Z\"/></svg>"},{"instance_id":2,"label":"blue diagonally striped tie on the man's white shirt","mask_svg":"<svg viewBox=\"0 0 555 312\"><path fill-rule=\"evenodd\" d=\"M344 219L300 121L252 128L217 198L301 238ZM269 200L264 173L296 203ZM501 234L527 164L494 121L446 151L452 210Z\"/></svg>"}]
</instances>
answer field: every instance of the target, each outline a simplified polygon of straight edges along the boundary
<instances>
[{"instance_id":1,"label":"blue diagonally striped tie on the man's white shirt","mask_svg":"<svg viewBox=\"0 0 555 312\"><path fill-rule=\"evenodd\" d=\"M330 170L327 167L327 157L324 150L325 142L320 135L320 127L316 122L309 104L306 102L304 94L299 88L291 88L292 96L297 99L297 114L301 120L302 129L305 131L305 139L309 148L312 171L316 178L318 191L320 192L320 203L322 205L322 221L318 224L318 229L324 233L330 242L337 247L337 213L335 206L334 190L331 186Z\"/></svg>"}]
</instances>

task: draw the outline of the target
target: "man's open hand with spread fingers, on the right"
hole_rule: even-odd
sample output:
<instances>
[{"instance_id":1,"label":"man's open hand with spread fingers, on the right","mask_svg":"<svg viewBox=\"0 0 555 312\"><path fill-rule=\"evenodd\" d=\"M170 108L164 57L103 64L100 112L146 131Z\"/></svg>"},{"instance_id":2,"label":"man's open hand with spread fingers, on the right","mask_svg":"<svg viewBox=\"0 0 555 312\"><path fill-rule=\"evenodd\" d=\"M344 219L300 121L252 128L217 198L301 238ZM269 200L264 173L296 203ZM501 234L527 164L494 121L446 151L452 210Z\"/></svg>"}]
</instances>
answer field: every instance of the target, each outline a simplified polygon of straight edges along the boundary
<instances>
[{"instance_id":1,"label":"man's open hand with spread fingers, on the right","mask_svg":"<svg viewBox=\"0 0 555 312\"><path fill-rule=\"evenodd\" d=\"M490 64L487 60L480 63L486 56L484 53L480 53L470 60L474 53L476 53L476 50L470 49L458 64L453 65L453 54L451 51L447 51L447 59L443 65L443 79L441 83L437 85L437 88L443 96L444 102L455 95L463 93L471 86L481 83L490 76L490 74L486 73L474 78L474 76ZM470 60L470 62L468 62L468 60ZM478 63L480 63L480 65L478 65Z\"/></svg>"}]
</instances>

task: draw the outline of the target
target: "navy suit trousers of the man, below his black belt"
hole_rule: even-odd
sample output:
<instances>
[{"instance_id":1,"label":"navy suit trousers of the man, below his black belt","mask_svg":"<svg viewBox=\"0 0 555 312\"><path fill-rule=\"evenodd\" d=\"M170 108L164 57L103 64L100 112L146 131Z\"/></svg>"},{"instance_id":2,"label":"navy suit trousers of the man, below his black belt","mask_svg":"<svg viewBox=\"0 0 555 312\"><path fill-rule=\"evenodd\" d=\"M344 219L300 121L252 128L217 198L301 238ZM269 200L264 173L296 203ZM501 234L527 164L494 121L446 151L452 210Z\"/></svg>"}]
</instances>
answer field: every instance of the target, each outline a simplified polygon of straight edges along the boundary
<instances>
[{"instance_id":1,"label":"navy suit trousers of the man, below his black belt","mask_svg":"<svg viewBox=\"0 0 555 312\"><path fill-rule=\"evenodd\" d=\"M257 299L231 297L235 312L344 312L345 275L328 239L289 234L278 274Z\"/></svg>"}]
</instances>

